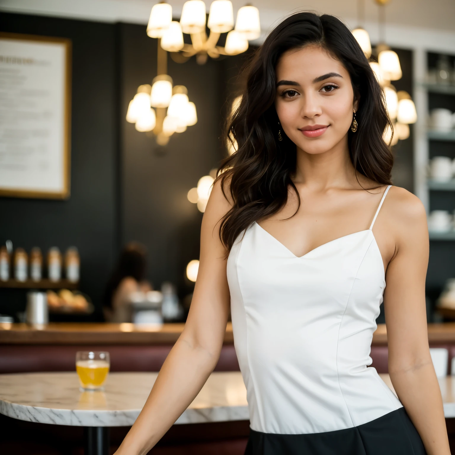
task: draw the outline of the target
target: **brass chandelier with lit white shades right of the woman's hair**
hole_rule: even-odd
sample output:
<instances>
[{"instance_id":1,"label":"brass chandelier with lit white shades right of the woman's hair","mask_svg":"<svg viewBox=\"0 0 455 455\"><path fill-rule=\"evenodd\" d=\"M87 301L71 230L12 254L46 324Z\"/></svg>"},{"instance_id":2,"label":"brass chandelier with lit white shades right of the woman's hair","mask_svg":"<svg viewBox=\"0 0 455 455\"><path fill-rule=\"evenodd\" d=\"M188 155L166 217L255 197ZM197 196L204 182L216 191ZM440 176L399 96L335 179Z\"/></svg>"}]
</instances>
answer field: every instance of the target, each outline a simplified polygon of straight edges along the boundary
<instances>
[{"instance_id":1,"label":"brass chandelier with lit white shades right of the woman's hair","mask_svg":"<svg viewBox=\"0 0 455 455\"><path fill-rule=\"evenodd\" d=\"M379 5L379 44L376 46L377 61L370 61L370 66L384 91L385 105L389 118L392 121L384 131L384 141L395 145L399 139L407 139L410 135L409 125L417 121L414 101L408 92L396 91L392 81L398 81L403 76L399 58L385 44L385 5L389 0L374 0ZM359 22L364 20L364 0L358 2ZM352 30L352 34L359 43L365 56L370 59L372 54L368 32L362 27Z\"/></svg>"}]
</instances>

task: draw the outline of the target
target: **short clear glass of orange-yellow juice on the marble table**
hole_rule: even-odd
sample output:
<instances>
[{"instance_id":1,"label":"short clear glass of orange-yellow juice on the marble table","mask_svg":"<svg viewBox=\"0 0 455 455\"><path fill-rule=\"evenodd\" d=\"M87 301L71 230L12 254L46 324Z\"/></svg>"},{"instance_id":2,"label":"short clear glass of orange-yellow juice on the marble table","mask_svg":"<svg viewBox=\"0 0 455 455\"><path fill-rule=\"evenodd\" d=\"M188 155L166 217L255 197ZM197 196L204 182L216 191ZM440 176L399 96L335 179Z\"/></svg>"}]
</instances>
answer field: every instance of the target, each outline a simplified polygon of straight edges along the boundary
<instances>
[{"instance_id":1,"label":"short clear glass of orange-yellow juice on the marble table","mask_svg":"<svg viewBox=\"0 0 455 455\"><path fill-rule=\"evenodd\" d=\"M83 390L102 390L110 367L105 351L78 351L76 371Z\"/></svg>"}]
</instances>

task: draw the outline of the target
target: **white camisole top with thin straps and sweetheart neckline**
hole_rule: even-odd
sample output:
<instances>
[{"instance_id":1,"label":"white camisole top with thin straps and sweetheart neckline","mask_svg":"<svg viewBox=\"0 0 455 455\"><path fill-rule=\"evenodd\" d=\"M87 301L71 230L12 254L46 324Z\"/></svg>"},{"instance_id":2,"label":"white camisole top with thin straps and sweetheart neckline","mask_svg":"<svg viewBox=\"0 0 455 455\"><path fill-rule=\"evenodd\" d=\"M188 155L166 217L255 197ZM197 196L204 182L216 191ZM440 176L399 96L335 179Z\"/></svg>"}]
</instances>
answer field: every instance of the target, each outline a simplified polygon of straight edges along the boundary
<instances>
[{"instance_id":1,"label":"white camisole top with thin straps and sweetheart neckline","mask_svg":"<svg viewBox=\"0 0 455 455\"><path fill-rule=\"evenodd\" d=\"M275 434L342 430L402 407L368 367L385 288L372 228L301 257L254 222L227 260L235 350L250 427Z\"/></svg>"}]
</instances>

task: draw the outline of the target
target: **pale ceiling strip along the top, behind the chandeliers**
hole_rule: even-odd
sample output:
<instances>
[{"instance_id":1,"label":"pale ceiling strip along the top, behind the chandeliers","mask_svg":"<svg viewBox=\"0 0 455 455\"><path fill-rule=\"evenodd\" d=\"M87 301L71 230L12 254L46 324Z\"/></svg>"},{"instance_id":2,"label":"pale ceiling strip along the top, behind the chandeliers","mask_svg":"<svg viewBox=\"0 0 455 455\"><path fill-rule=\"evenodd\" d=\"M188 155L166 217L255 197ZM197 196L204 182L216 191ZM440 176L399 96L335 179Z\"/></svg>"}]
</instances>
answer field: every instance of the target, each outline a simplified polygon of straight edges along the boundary
<instances>
[{"instance_id":1,"label":"pale ceiling strip along the top, behind the chandeliers","mask_svg":"<svg viewBox=\"0 0 455 455\"><path fill-rule=\"evenodd\" d=\"M248 0L233 0L234 10ZM182 10L184 0L168 0L175 13ZM315 10L341 18L356 20L358 0L256 0L255 6L263 12L263 26L268 29L275 20L296 10ZM0 0L0 10L23 13L80 17L93 20L126 20L145 23L153 0ZM208 7L210 0L206 1ZM374 0L364 0L366 20L377 22L378 5ZM389 24L403 24L435 30L455 30L454 0L390 0L386 6ZM264 22L265 20L265 22Z\"/></svg>"}]
</instances>

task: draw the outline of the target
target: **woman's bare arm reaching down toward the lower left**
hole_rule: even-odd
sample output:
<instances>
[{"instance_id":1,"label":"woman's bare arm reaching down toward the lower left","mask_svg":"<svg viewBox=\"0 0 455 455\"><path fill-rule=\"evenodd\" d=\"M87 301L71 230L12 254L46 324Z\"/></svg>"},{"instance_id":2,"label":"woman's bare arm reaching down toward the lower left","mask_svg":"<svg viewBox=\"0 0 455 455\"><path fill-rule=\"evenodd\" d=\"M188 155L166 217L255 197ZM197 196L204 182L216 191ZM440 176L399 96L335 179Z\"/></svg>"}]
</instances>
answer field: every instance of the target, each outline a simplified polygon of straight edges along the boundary
<instances>
[{"instance_id":1,"label":"woman's bare arm reaching down toward the lower left","mask_svg":"<svg viewBox=\"0 0 455 455\"><path fill-rule=\"evenodd\" d=\"M146 454L196 397L217 364L230 305L226 250L218 230L229 208L217 182L202 218L199 272L187 323L116 455Z\"/></svg>"}]
</instances>

